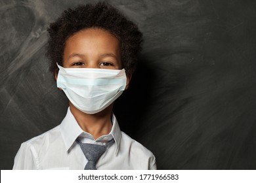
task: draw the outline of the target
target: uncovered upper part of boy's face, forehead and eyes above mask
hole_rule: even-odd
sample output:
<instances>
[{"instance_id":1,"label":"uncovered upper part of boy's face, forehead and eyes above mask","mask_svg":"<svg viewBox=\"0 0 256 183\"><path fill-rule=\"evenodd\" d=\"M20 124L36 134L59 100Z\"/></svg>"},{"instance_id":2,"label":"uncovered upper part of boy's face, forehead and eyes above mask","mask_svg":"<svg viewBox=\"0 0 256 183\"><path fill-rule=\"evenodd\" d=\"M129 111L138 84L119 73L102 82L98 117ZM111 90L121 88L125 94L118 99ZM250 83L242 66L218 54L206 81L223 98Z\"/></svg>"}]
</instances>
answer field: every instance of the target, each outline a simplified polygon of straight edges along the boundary
<instances>
[{"instance_id":1,"label":"uncovered upper part of boy's face, forehead and eyes above mask","mask_svg":"<svg viewBox=\"0 0 256 183\"><path fill-rule=\"evenodd\" d=\"M102 29L79 31L66 41L63 67L122 69L120 42Z\"/></svg>"}]
</instances>

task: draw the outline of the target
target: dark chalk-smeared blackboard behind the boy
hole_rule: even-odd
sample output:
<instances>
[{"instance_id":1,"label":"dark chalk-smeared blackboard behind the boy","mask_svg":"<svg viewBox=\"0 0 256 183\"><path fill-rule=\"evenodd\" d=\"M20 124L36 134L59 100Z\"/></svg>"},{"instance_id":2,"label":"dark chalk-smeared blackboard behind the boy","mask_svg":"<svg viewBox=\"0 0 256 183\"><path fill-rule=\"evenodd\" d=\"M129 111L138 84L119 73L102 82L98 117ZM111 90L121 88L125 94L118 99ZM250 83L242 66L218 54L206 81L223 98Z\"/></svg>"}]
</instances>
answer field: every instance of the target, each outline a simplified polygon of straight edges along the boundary
<instances>
[{"instance_id":1,"label":"dark chalk-smeared blackboard behind the boy","mask_svg":"<svg viewBox=\"0 0 256 183\"><path fill-rule=\"evenodd\" d=\"M60 124L68 103L45 58L47 25L94 1L0 1L0 168ZM158 169L256 169L256 1L108 1L139 25L144 50L116 102L121 129Z\"/></svg>"}]
</instances>

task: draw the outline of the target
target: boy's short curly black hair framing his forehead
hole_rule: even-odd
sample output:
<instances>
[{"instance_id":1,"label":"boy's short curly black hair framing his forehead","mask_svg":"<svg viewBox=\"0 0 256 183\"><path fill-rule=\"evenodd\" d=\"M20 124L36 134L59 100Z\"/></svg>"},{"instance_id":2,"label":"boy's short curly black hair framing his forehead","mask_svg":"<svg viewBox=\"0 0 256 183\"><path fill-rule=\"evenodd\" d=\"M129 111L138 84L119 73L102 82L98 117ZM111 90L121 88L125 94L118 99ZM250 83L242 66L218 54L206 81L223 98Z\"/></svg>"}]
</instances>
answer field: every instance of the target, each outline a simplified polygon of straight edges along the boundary
<instances>
[{"instance_id":1,"label":"boy's short curly black hair framing his forehead","mask_svg":"<svg viewBox=\"0 0 256 183\"><path fill-rule=\"evenodd\" d=\"M67 39L89 28L100 28L112 33L121 42L121 62L127 75L131 75L137 66L137 54L142 49L142 33L137 25L127 20L116 8L104 2L95 5L79 5L72 10L68 8L49 25L49 41L46 56L51 61L50 71L58 71L62 65L64 47Z\"/></svg>"}]
</instances>

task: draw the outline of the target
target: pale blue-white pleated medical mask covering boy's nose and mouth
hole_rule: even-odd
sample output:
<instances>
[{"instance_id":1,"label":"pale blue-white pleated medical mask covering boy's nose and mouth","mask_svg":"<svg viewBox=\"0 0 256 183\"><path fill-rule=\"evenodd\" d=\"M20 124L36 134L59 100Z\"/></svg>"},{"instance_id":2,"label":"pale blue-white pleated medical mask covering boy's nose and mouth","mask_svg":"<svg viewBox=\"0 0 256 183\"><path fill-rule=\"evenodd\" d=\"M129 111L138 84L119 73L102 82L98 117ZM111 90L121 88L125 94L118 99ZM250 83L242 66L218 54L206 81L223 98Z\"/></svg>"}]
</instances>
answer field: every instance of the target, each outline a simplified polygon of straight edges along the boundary
<instances>
[{"instance_id":1,"label":"pale blue-white pleated medical mask covering boy's nose and mouth","mask_svg":"<svg viewBox=\"0 0 256 183\"><path fill-rule=\"evenodd\" d=\"M125 69L58 68L57 87L87 114L104 110L125 90Z\"/></svg>"}]
</instances>

